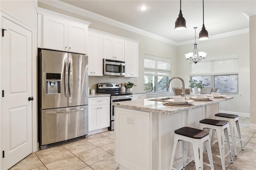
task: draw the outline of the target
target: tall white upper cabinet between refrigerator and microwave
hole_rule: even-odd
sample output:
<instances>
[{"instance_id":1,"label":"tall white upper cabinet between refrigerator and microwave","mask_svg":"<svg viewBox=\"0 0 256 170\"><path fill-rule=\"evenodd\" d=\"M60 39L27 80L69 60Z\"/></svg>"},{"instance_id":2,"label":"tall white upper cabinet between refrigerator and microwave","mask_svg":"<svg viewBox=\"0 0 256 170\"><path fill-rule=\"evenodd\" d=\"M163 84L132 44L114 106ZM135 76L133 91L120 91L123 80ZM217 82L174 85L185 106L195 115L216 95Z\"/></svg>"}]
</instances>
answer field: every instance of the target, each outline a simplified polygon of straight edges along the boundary
<instances>
[{"instance_id":1,"label":"tall white upper cabinet between refrigerator and microwave","mask_svg":"<svg viewBox=\"0 0 256 170\"><path fill-rule=\"evenodd\" d=\"M89 75L103 75L103 36L88 32Z\"/></svg>"}]
</instances>

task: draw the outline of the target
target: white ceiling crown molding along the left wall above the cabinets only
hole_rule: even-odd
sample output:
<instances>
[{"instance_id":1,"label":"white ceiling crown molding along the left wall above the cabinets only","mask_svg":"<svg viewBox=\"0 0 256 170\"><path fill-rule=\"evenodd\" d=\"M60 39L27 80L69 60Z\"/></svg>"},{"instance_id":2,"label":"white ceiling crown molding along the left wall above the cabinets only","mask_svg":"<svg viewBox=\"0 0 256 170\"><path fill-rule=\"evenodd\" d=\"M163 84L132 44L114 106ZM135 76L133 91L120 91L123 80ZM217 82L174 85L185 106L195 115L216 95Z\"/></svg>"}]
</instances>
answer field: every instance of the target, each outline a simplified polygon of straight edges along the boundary
<instances>
[{"instance_id":1,"label":"white ceiling crown molding along the left wall above the cabinets only","mask_svg":"<svg viewBox=\"0 0 256 170\"><path fill-rule=\"evenodd\" d=\"M74 14L85 16L85 17L91 18L93 20L104 22L106 24L109 24L109 25L112 25L112 26L116 26L118 28L122 28L122 29L128 30L130 32L134 32L134 33L137 33L137 34L141 34L143 36L154 38L154 39L162 41L162 42L170 43L172 45L177 45L177 42L174 42L174 41L172 41L172 40L170 40L168 38L164 38L164 37L158 36L158 35L153 34L151 32L147 32L145 30L141 30L139 28L130 26L128 24L124 24L122 22L119 22L119 21L113 20L111 18L108 18L108 17L102 16L102 15L96 14L94 12L91 12L91 11L79 8L77 6L70 5L68 3L65 3L65 2L62 2L62 1L59 1L59 0L38 0L38 2L46 4L46 5L54 6L56 8L60 8L62 10L66 10L66 11L72 12Z\"/></svg>"}]
</instances>

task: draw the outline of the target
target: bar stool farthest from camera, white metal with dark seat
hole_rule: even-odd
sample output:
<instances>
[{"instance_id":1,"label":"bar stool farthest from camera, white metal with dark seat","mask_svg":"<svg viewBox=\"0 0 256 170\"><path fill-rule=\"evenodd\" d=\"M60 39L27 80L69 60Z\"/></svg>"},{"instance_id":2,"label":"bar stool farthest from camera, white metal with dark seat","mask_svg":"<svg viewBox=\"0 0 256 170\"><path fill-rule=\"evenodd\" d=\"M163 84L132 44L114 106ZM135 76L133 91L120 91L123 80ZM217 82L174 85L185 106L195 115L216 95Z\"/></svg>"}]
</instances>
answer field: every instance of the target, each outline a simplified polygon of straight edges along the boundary
<instances>
[{"instance_id":1,"label":"bar stool farthest from camera, white metal with dark seat","mask_svg":"<svg viewBox=\"0 0 256 170\"><path fill-rule=\"evenodd\" d=\"M243 145L242 145L242 138L241 138L241 131L240 131L240 126L239 126L238 115L232 115L232 114L227 114L227 113L218 113L215 115L214 119L228 121L234 153L235 153L235 156L237 156L237 151L236 151L236 143L237 142L240 142L241 148L242 148L242 150L244 150ZM236 141L235 125L236 125L236 130L238 132L238 137L239 137L238 141Z\"/></svg>"}]
</instances>

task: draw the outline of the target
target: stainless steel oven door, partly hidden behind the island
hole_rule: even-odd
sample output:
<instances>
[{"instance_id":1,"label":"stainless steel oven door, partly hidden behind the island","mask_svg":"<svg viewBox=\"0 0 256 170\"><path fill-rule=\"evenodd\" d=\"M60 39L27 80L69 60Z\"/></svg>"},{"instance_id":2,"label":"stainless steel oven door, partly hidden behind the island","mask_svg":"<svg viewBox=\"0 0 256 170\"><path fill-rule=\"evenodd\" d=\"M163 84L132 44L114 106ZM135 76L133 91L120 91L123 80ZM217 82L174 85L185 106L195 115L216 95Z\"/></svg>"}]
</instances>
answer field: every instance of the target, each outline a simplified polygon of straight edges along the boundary
<instances>
[{"instance_id":1,"label":"stainless steel oven door, partly hidden behind the island","mask_svg":"<svg viewBox=\"0 0 256 170\"><path fill-rule=\"evenodd\" d=\"M108 130L114 130L115 113L114 113L114 106L112 106L112 103L118 102L118 101L130 101L130 100L132 100L132 95L111 96L110 127L108 127Z\"/></svg>"}]
</instances>

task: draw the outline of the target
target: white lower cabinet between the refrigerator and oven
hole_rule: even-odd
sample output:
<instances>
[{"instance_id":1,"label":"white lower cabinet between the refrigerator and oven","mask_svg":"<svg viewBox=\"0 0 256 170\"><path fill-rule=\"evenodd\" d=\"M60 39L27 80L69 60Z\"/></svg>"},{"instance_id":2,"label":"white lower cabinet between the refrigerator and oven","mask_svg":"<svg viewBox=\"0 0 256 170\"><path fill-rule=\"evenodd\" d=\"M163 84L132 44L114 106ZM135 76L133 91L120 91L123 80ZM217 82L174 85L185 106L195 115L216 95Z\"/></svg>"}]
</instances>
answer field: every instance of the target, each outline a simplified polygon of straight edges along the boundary
<instances>
[{"instance_id":1,"label":"white lower cabinet between the refrigerator and oven","mask_svg":"<svg viewBox=\"0 0 256 170\"><path fill-rule=\"evenodd\" d=\"M89 98L89 131L110 126L110 97Z\"/></svg>"}]
</instances>

